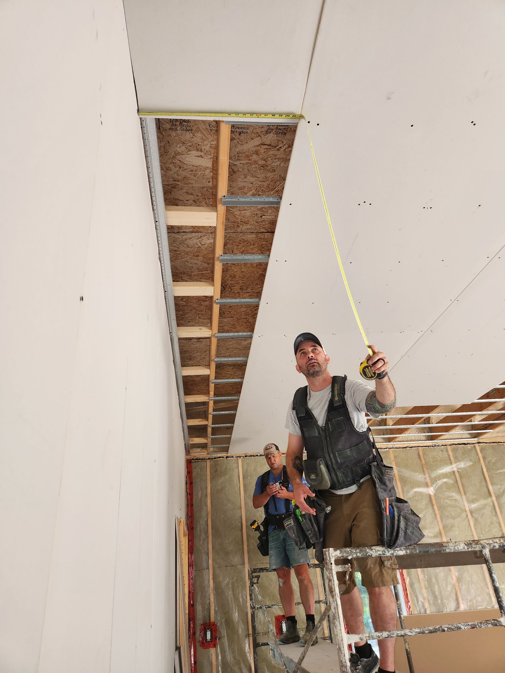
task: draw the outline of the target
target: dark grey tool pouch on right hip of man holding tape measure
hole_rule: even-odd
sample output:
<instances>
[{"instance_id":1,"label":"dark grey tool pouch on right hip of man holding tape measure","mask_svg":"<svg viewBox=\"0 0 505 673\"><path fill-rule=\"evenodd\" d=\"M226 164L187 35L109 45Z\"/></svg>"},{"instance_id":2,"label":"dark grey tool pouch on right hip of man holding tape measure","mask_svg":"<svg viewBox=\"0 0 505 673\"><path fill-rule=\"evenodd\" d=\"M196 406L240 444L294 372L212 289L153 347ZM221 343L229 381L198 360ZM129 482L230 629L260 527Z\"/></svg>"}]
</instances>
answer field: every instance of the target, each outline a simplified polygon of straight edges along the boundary
<instances>
[{"instance_id":1,"label":"dark grey tool pouch on right hip of man holding tape measure","mask_svg":"<svg viewBox=\"0 0 505 673\"><path fill-rule=\"evenodd\" d=\"M419 524L421 518L411 509L409 503L397 497L393 483L394 471L385 465L376 450L377 462L372 463L372 481L382 511L382 542L390 549L415 544L424 538ZM386 498L389 499L389 511L386 513Z\"/></svg>"}]
</instances>

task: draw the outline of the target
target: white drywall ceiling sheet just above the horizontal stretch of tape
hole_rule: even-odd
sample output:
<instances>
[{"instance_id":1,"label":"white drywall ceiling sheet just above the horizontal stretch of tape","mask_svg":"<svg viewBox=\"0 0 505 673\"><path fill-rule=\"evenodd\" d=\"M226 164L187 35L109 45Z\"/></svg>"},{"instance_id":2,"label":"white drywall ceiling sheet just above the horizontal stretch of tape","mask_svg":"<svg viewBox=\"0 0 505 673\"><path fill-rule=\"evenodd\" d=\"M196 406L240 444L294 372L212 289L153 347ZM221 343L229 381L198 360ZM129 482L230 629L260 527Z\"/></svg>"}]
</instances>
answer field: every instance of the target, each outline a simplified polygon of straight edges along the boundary
<instances>
[{"instance_id":1,"label":"white drywall ceiling sheet just above the horizontal stretch of tape","mask_svg":"<svg viewBox=\"0 0 505 673\"><path fill-rule=\"evenodd\" d=\"M300 112L321 5L127 0L139 108Z\"/></svg>"}]
</instances>

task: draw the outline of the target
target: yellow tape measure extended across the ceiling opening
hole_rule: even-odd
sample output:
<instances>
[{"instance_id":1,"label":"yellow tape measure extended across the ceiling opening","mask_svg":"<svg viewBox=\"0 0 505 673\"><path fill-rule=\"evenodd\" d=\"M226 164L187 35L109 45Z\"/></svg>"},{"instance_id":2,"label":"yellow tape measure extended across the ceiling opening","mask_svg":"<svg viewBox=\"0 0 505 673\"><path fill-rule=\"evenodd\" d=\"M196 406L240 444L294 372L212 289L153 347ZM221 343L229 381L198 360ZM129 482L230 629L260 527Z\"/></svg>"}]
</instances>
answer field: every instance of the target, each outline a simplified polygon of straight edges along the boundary
<instances>
[{"instance_id":1,"label":"yellow tape measure extended across the ceiling opening","mask_svg":"<svg viewBox=\"0 0 505 673\"><path fill-rule=\"evenodd\" d=\"M308 130L308 121L306 120L305 116L303 114L292 114L292 113L284 113L284 112L272 112L272 113L266 113L266 112L139 112L139 116L145 117L145 116L154 116L154 117L180 117L183 119L187 119L189 117L211 117L211 118L217 118L217 117L224 117L224 118L249 118L249 119L303 119L306 122L306 129L307 129L307 135L308 135L308 142L310 143L310 152L312 153L312 160L314 160L314 168L316 169L316 176L317 176L317 182L319 185L319 191L321 192L321 199L323 199L323 206L325 207L325 213L326 213L326 219L328 222L328 226L330 229L330 234L331 234L331 240L333 241L333 247L335 248L335 254L337 254L337 261L339 262L339 269L340 273L342 275L343 279L343 284L345 285L345 289L347 291L347 297L349 297L349 302L351 303L351 308L354 313L354 317L356 318L356 322L358 323L358 328L360 328L361 335L363 337L363 341L365 342L366 347L368 348L368 352L370 355L373 355L372 349L370 349L368 345L368 339L366 338L365 330L363 329L363 325L360 320L360 316L358 316L358 310L356 309L356 304L354 304L354 299L352 298L351 294L351 289L349 287L349 283L347 283L347 277L345 276L345 271L343 269L343 264L339 252L339 247L337 246L337 239L335 238L335 232L333 231L333 225L331 224L331 217L330 213L328 210L328 205L326 203L326 197L325 197L325 190L323 190L323 182L321 182L321 176L319 174L319 168L317 165L316 161L316 153L314 152L314 146L312 145L312 138L310 137L310 131ZM366 359L360 364L360 374L361 376L366 379L366 380L373 380L374 378L377 378L377 373L370 367ZM384 374L385 376L385 374ZM382 378L379 375L379 378Z\"/></svg>"}]
</instances>

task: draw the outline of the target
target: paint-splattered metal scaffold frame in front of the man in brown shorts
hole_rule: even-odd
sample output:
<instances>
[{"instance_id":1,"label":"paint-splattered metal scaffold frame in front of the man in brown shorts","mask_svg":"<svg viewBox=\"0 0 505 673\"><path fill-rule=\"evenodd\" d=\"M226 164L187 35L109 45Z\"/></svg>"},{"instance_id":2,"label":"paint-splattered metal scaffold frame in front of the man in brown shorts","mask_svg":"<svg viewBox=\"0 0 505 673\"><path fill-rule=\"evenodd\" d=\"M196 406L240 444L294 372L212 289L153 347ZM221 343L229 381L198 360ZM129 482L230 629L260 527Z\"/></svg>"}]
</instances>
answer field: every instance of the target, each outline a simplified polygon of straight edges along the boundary
<instances>
[{"instance_id":1,"label":"paint-splattered metal scaffold frame in front of the man in brown shorts","mask_svg":"<svg viewBox=\"0 0 505 673\"><path fill-rule=\"evenodd\" d=\"M505 627L505 601L500 590L498 579L494 571L494 566L490 557L490 549L505 549L505 538L487 538L485 540L466 540L462 542L431 542L428 544L412 544L411 546L401 547L399 549L390 549L384 546L362 546L362 547L346 547L340 549L325 549L323 551L325 557L325 569L328 573L328 593L331 603L333 627L335 629L335 645L337 645L337 661L340 666L341 673L349 673L349 658L347 645L356 641L362 640L382 640L383 638L397 638L402 637L406 642L407 636L423 635L426 633L447 633L449 631L465 631L467 629L484 629L487 627ZM416 629L395 629L394 631L372 631L371 633L345 633L343 623L343 614L341 610L340 596L339 596L339 582L337 579L337 571L341 566L336 566L337 559L369 559L379 556L417 556L432 553L455 553L462 551L480 552L485 562L487 572L490 575L494 595L498 608L500 610L500 618L484 619L482 621L462 622L457 624L443 624L432 627L419 627ZM475 564L479 563L475 557ZM399 596L396 596L397 604L399 603ZM403 618L403 615L402 615ZM400 625L401 624L400 620ZM407 649L408 643L406 643ZM413 664L409 658L409 650L407 653L407 661L409 661L409 670L413 673Z\"/></svg>"}]
</instances>

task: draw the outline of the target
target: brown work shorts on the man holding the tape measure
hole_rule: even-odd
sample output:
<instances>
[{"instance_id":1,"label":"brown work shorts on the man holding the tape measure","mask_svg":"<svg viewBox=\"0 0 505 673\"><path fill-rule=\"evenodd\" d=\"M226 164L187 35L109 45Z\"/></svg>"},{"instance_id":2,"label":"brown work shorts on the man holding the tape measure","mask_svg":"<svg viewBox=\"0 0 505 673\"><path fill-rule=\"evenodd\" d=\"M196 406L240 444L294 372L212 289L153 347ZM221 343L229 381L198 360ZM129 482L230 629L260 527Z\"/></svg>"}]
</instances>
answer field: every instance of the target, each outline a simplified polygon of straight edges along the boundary
<instances>
[{"instance_id":1,"label":"brown work shorts on the man holding the tape measure","mask_svg":"<svg viewBox=\"0 0 505 673\"><path fill-rule=\"evenodd\" d=\"M331 511L325 518L325 547L372 546L382 544L382 512L372 479L362 483L361 489L348 495L320 491ZM347 561L344 561L347 563ZM367 588L386 587L398 583L398 564L393 556L356 559L361 573L362 585ZM352 571L337 573L341 594L350 594L356 587L354 573L356 563L351 560ZM346 586L347 585L347 586ZM342 586L345 590L342 591Z\"/></svg>"}]
</instances>

